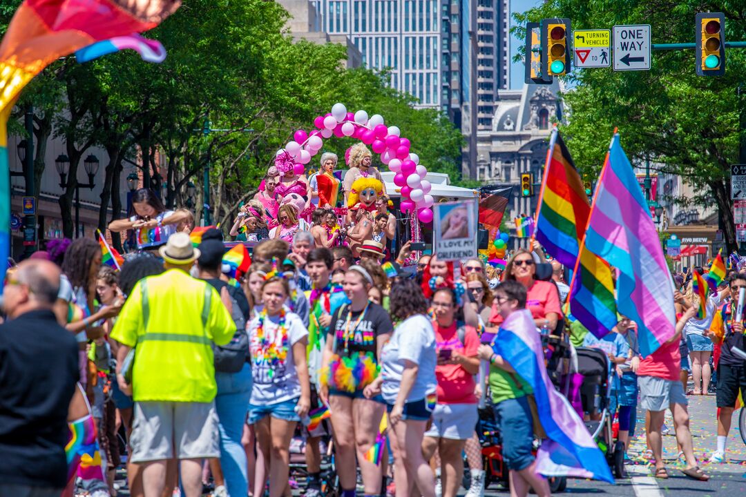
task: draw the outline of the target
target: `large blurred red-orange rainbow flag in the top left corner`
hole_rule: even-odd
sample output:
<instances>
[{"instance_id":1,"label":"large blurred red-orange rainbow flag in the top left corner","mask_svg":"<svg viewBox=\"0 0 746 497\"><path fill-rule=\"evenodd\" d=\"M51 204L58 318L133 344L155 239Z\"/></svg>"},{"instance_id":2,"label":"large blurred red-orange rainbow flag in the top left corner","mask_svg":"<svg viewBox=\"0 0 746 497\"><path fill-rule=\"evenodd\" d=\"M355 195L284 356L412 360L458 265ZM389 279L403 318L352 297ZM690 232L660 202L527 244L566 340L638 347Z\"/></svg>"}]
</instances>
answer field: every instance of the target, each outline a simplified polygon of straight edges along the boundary
<instances>
[{"instance_id":1,"label":"large blurred red-orange rainbow flag in the top left corner","mask_svg":"<svg viewBox=\"0 0 746 497\"><path fill-rule=\"evenodd\" d=\"M148 31L180 6L179 0L25 0L13 14L0 44L0 260L10 255L7 119L21 90L54 60L104 39Z\"/></svg>"}]
</instances>

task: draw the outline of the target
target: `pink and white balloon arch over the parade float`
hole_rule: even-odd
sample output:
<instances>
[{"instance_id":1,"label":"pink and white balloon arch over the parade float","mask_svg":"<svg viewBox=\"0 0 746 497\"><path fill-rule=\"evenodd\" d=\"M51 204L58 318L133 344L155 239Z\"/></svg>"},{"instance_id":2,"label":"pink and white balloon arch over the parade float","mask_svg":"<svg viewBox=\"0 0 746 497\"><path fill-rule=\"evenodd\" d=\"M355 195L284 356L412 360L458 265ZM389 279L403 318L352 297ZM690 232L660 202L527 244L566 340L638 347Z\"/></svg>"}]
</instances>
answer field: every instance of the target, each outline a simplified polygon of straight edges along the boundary
<instances>
[{"instance_id":1,"label":"pink and white balloon arch over the parade float","mask_svg":"<svg viewBox=\"0 0 746 497\"><path fill-rule=\"evenodd\" d=\"M303 174L305 165L311 157L321 151L324 139L331 136L342 138L350 136L369 145L374 153L380 154L380 162L389 166L395 173L394 184L401 191L401 212L413 214L423 223L433 221L432 186L425 180L427 168L419 163L419 156L410 152L410 141L401 137L401 130L396 126L386 126L383 117L374 114L368 117L365 110L348 113L344 104L334 104L331 112L318 115L313 120L316 130L307 133L297 130L293 139L277 154L287 152L297 161L295 172Z\"/></svg>"}]
</instances>

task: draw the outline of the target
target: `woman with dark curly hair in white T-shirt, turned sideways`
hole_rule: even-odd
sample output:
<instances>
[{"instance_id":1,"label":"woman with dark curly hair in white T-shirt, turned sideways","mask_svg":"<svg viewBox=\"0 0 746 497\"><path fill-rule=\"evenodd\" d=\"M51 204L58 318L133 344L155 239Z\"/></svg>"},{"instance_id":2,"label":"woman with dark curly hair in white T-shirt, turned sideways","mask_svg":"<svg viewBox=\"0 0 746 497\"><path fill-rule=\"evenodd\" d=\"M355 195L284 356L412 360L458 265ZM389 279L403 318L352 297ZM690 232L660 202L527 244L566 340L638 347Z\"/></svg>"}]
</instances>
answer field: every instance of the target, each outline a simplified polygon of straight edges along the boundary
<instances>
[{"instance_id":1,"label":"woman with dark curly hair in white T-shirt, turned sideways","mask_svg":"<svg viewBox=\"0 0 746 497\"><path fill-rule=\"evenodd\" d=\"M391 315L398 325L383 346L381 374L365 395L380 392L386 401L396 496L434 497L435 478L422 454L422 439L436 406L436 339L427 300L414 280L392 285Z\"/></svg>"}]
</instances>

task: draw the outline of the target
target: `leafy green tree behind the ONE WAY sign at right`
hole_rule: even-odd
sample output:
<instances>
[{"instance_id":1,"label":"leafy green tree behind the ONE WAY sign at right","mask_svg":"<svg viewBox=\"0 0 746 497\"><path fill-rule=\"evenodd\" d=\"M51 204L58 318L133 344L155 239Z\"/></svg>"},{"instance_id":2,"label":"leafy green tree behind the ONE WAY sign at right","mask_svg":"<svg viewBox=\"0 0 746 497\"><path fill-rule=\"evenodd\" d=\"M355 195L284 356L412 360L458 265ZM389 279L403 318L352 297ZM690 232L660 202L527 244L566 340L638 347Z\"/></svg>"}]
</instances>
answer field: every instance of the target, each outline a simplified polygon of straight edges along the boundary
<instances>
[{"instance_id":1,"label":"leafy green tree behind the ONE WAY sign at right","mask_svg":"<svg viewBox=\"0 0 746 497\"><path fill-rule=\"evenodd\" d=\"M573 29L650 24L653 43L695 41L695 13L723 12L726 39L746 39L741 1L548 0L515 16L519 22L570 17ZM516 34L521 36L522 28ZM651 159L659 171L678 174L700 194L676 199L717 206L724 220L727 249L736 249L730 204L730 165L738 162L744 130L739 115L746 102L737 91L746 79L746 53L727 49L722 77L695 75L695 54L653 51L650 71L574 69L572 89L563 98L570 109L562 130L575 162L597 174L614 127L630 160Z\"/></svg>"}]
</instances>

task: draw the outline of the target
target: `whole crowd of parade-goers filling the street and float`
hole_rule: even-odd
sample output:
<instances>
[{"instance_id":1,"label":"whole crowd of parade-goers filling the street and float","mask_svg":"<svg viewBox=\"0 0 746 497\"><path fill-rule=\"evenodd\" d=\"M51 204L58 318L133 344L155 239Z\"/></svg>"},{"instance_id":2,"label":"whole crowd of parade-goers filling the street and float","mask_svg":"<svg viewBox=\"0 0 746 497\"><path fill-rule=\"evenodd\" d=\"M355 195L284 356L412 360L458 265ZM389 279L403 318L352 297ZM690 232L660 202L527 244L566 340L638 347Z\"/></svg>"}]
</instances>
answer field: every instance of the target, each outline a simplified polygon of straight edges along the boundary
<instances>
[{"instance_id":1,"label":"whole crowd of parade-goers filling the street and float","mask_svg":"<svg viewBox=\"0 0 746 497\"><path fill-rule=\"evenodd\" d=\"M333 453L343 497L454 497L464 458L467 496L480 497L484 399L513 495L533 488L548 496L548 481L536 474L527 366L495 353L501 323L524 309L531 332L604 351L618 441L626 451L637 409L646 411L656 478L669 475L667 409L684 474L708 478L694 455L687 395L715 389L711 460L727 458L746 389L746 362L733 352L745 348L733 308L744 274L734 271L706 297L692 291L692 273L674 275L676 335L642 358L627 317L596 338L568 315L564 268L535 242L515 250L503 272L480 258L415 260L410 242L384 270L395 219L375 186L351 186L375 177L369 153L358 149L351 159L357 177L345 193L369 204L354 209L355 200L351 226L333 208L348 186L333 174L336 156L325 153L310 182L281 161L269 171L230 230L257 241L245 273L225 265L219 229L193 243L189 212L166 210L145 189L133 196L131 218L110 225L130 232L138 248L120 270L102 266L91 238L51 242L10 268L0 326L0 495L115 496L126 455L132 496L196 497L212 481L219 497L286 496L295 484L319 497L335 484L322 472ZM292 194L313 224L299 217L297 199L284 201ZM367 218L371 205L377 214ZM705 317L696 316L700 307ZM289 478L299 439L302 483Z\"/></svg>"}]
</instances>

